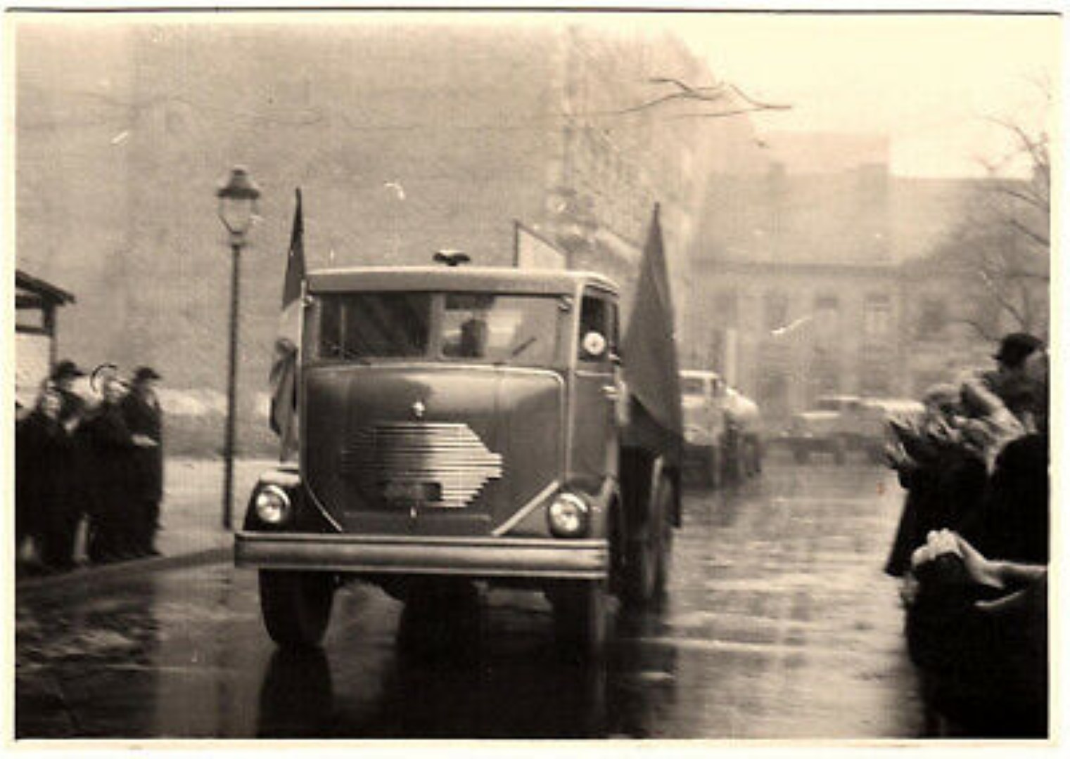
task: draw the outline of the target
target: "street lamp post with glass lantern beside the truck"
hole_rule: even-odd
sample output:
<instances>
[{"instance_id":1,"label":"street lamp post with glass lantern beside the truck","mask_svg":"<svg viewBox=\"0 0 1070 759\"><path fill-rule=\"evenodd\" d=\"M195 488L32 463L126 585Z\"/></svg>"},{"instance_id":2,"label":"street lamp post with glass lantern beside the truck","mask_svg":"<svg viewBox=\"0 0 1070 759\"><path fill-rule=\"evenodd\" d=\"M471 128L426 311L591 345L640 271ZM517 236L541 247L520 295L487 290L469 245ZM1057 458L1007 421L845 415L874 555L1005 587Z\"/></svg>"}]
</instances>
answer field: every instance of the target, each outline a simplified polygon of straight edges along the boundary
<instances>
[{"instance_id":1,"label":"street lamp post with glass lantern beside the truck","mask_svg":"<svg viewBox=\"0 0 1070 759\"><path fill-rule=\"evenodd\" d=\"M235 166L226 183L215 191L218 214L230 235L230 344L227 361L227 428L223 444L223 526L231 527L234 480L234 417L238 396L238 301L241 286L242 248L257 214L260 188L245 168Z\"/></svg>"}]
</instances>

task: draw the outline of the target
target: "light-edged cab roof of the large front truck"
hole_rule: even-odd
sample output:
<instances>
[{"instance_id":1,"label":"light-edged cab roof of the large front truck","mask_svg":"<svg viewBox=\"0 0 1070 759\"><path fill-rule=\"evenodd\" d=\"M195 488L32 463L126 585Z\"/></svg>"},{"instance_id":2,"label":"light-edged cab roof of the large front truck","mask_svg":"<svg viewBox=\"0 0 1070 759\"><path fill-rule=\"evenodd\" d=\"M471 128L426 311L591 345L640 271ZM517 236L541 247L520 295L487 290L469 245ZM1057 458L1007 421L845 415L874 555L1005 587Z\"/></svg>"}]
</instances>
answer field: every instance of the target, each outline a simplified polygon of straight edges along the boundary
<instances>
[{"instance_id":1,"label":"light-edged cab roof of the large front truck","mask_svg":"<svg viewBox=\"0 0 1070 759\"><path fill-rule=\"evenodd\" d=\"M620 293L612 280L594 272L504 266L351 266L309 272L307 280L314 293L423 290L564 295L587 284Z\"/></svg>"}]
</instances>

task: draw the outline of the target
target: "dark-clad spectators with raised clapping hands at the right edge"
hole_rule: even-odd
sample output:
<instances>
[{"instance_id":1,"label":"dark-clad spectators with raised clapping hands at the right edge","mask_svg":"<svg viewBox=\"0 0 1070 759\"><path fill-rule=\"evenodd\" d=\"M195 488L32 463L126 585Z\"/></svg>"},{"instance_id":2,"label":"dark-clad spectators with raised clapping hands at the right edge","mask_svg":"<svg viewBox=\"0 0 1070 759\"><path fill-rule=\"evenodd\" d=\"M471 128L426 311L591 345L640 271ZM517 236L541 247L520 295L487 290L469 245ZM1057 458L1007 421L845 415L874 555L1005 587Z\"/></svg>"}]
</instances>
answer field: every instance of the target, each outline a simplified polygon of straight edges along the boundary
<instances>
[{"instance_id":1,"label":"dark-clad spectators with raised clapping hands at the right edge","mask_svg":"<svg viewBox=\"0 0 1070 759\"><path fill-rule=\"evenodd\" d=\"M892 422L906 490L885 571L942 733L1048 732L1049 383L1039 339L1008 335L995 371L931 388Z\"/></svg>"}]
</instances>

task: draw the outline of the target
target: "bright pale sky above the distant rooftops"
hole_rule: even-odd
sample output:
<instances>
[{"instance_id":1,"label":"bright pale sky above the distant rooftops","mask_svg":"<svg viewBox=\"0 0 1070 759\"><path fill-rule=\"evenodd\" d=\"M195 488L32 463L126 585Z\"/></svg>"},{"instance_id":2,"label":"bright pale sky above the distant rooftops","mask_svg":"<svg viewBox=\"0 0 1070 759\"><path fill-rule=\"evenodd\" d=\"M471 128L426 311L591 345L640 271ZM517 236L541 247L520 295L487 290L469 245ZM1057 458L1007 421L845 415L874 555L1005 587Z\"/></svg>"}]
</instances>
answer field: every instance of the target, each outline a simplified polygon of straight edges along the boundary
<instances>
[{"instance_id":1,"label":"bright pale sky above the distant rooftops","mask_svg":"<svg viewBox=\"0 0 1070 759\"><path fill-rule=\"evenodd\" d=\"M792 105L755 114L763 131L883 134L900 175L983 173L1011 152L991 123L1042 128L1044 82L1057 102L1055 16L701 14L666 19L749 95ZM1021 170L1021 165L1008 173Z\"/></svg>"}]
</instances>

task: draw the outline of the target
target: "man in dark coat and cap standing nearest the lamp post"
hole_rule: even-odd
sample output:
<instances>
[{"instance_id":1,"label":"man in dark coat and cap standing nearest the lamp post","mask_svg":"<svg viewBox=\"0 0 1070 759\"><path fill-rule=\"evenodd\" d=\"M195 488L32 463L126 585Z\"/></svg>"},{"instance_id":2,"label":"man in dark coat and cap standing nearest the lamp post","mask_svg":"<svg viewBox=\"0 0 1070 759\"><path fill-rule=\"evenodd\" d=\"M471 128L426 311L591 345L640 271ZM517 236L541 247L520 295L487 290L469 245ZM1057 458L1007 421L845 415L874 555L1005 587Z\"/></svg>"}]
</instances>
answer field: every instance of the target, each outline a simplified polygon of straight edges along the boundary
<instances>
[{"instance_id":1,"label":"man in dark coat and cap standing nearest the lamp post","mask_svg":"<svg viewBox=\"0 0 1070 759\"><path fill-rule=\"evenodd\" d=\"M155 390L159 378L152 367L140 367L134 372L131 391L122 400L123 418L137 446L131 483L129 544L140 556L158 554L155 541L164 495L163 414Z\"/></svg>"}]
</instances>

